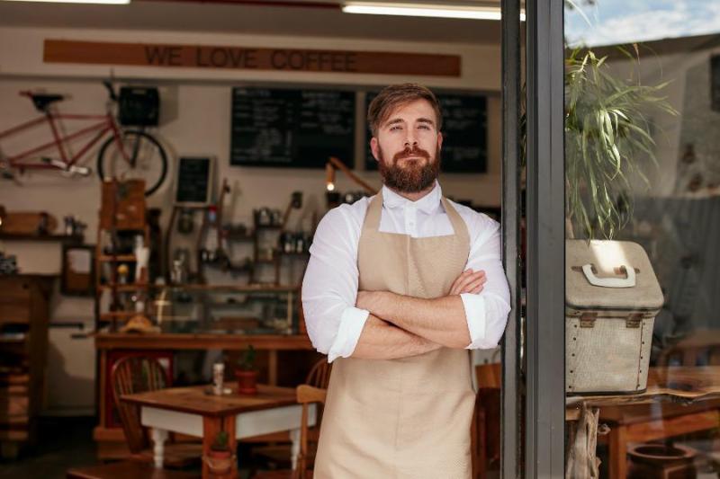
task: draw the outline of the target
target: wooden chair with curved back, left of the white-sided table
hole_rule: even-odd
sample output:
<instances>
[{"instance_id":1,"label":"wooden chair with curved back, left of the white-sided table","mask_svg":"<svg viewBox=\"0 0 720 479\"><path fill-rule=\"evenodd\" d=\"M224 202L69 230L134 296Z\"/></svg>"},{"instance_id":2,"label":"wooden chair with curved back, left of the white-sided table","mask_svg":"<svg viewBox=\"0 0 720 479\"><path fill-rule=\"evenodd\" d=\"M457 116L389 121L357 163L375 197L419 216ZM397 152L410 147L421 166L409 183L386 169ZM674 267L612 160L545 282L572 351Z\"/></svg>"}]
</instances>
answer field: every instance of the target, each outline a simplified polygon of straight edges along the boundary
<instances>
[{"instance_id":1,"label":"wooden chair with curved back, left of the white-sided table","mask_svg":"<svg viewBox=\"0 0 720 479\"><path fill-rule=\"evenodd\" d=\"M121 401L121 395L143 393L163 389L170 382L165 369L157 359L147 356L129 356L119 360L112 368L112 400L117 408L130 448L130 459L153 462L152 445L148 430L140 422L139 407ZM202 444L168 443L165 446L164 465L183 468L202 464Z\"/></svg>"}]
</instances>

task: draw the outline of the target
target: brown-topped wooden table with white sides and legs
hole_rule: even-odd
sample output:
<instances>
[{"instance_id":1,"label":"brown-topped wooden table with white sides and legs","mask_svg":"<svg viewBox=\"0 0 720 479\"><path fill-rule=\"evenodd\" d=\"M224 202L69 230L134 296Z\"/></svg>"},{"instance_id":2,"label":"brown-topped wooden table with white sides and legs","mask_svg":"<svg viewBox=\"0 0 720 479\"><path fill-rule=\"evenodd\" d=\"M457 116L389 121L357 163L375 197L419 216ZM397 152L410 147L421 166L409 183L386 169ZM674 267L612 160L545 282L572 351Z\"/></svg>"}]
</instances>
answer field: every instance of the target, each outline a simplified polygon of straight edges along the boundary
<instances>
[{"instance_id":1,"label":"brown-topped wooden table with white sides and legs","mask_svg":"<svg viewBox=\"0 0 720 479\"><path fill-rule=\"evenodd\" d=\"M168 432L179 432L202 438L203 456L208 453L220 430L228 433L229 448L235 451L238 439L246 439L273 432L291 431L293 467L300 452L302 406L297 404L295 389L278 386L258 386L257 395L238 395L237 385L229 386L232 395L208 395L208 386L172 387L123 395L121 399L140 406L140 421L151 428L154 442L155 466L163 466L163 450ZM316 409L310 408L309 425L316 421ZM237 477L237 461L230 477ZM202 461L202 477L209 477L206 462Z\"/></svg>"}]
</instances>

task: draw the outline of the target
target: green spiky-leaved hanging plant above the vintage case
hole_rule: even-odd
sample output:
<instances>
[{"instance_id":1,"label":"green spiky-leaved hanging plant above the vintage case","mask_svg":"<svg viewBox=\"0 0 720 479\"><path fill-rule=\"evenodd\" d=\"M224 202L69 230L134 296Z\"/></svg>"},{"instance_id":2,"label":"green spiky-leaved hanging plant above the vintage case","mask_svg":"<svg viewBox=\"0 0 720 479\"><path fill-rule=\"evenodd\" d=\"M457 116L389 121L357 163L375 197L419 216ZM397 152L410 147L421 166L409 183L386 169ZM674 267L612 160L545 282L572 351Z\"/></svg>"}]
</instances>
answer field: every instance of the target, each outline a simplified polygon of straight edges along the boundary
<instances>
[{"instance_id":1,"label":"green spiky-leaved hanging plant above the vintage case","mask_svg":"<svg viewBox=\"0 0 720 479\"><path fill-rule=\"evenodd\" d=\"M565 59L565 216L587 239L611 239L632 217L631 179L650 186L639 167L657 165L648 111L677 114L661 95L667 83L618 79L606 59L588 49Z\"/></svg>"}]
</instances>

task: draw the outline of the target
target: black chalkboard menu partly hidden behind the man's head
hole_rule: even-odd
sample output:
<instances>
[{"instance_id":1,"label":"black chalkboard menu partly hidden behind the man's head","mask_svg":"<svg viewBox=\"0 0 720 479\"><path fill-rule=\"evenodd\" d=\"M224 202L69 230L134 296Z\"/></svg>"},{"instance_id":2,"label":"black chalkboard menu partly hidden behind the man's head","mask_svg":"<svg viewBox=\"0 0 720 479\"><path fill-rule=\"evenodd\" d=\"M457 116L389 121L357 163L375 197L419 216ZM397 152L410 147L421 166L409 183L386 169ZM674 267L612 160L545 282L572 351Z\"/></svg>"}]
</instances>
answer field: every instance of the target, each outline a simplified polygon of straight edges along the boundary
<instances>
[{"instance_id":1,"label":"black chalkboard menu partly hidden behind the man's head","mask_svg":"<svg viewBox=\"0 0 720 479\"><path fill-rule=\"evenodd\" d=\"M367 93L365 111L377 93ZM439 93L443 112L442 171L446 173L487 172L487 100L480 93ZM367 130L365 169L377 170L370 151Z\"/></svg>"}]
</instances>

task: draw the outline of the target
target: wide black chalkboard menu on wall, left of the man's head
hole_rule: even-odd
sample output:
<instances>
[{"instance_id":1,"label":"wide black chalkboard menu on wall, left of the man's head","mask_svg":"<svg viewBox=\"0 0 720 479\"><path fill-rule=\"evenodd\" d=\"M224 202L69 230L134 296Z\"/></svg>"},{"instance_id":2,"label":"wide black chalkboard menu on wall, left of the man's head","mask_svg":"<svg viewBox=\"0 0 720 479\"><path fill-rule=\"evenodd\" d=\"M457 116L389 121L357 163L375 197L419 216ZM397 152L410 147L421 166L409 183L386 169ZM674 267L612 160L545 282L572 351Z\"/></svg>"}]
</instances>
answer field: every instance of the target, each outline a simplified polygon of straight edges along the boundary
<instances>
[{"instance_id":1,"label":"wide black chalkboard menu on wall, left of the man's head","mask_svg":"<svg viewBox=\"0 0 720 479\"><path fill-rule=\"evenodd\" d=\"M233 88L230 164L352 167L354 152L355 92Z\"/></svg>"}]
</instances>

